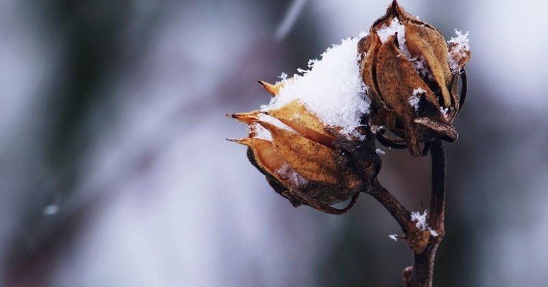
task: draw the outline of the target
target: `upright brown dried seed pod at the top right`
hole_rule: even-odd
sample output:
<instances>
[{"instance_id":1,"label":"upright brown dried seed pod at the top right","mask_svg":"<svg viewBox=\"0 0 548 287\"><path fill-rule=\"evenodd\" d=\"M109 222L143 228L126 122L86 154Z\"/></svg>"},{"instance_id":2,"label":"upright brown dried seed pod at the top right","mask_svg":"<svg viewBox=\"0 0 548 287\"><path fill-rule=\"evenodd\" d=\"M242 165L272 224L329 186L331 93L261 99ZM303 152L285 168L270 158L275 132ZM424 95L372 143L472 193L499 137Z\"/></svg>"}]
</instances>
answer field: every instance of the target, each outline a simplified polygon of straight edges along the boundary
<instances>
[{"instance_id":1,"label":"upright brown dried seed pod at the top right","mask_svg":"<svg viewBox=\"0 0 548 287\"><path fill-rule=\"evenodd\" d=\"M460 37L460 38L459 38ZM447 46L441 32L408 14L397 4L358 42L362 80L369 86L370 123L377 139L389 147L408 147L421 158L419 142L458 138L451 125L464 103L470 60L466 35L458 32ZM458 94L458 78L463 87ZM384 129L400 139L387 138ZM406 143L406 145L403 145Z\"/></svg>"}]
</instances>

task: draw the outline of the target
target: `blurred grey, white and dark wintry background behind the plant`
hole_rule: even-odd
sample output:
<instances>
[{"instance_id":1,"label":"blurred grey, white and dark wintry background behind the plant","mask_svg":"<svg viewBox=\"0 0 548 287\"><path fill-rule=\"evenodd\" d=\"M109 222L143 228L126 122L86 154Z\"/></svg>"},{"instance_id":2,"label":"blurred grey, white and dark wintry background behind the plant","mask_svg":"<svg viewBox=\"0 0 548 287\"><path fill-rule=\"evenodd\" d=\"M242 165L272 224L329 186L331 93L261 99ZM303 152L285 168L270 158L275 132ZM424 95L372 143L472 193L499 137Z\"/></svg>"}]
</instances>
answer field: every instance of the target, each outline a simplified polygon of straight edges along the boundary
<instances>
[{"instance_id":1,"label":"blurred grey, white and dark wintry background behind the plant","mask_svg":"<svg viewBox=\"0 0 548 287\"><path fill-rule=\"evenodd\" d=\"M447 144L436 286L545 286L548 2L401 0L470 31ZM356 36L389 1L0 1L0 286L403 286L412 255L363 195L292 208L227 112ZM429 159L385 149L381 181L427 205Z\"/></svg>"}]
</instances>

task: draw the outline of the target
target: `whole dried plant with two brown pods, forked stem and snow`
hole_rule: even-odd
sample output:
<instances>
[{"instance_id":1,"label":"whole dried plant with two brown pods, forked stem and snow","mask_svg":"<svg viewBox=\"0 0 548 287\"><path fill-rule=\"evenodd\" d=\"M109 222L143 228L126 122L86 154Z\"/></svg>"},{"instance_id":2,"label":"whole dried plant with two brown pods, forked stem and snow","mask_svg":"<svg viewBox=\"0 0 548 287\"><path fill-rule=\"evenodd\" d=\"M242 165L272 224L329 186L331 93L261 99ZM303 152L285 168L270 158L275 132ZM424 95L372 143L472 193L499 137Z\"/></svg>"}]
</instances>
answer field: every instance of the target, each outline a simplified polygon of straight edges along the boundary
<instances>
[{"instance_id":1,"label":"whole dried plant with two brown pods, forked stem and snow","mask_svg":"<svg viewBox=\"0 0 548 287\"><path fill-rule=\"evenodd\" d=\"M454 142L453 121L466 97L464 65L468 34L445 41L432 25L397 1L356 38L311 60L309 70L281 81L259 81L273 95L260 110L229 114L248 136L231 140L247 147L251 164L275 192L295 207L308 205L343 214L365 193L394 217L414 253L403 270L406 286L432 286L436 250L445 235L445 150ZM379 143L430 153L432 193L427 210L410 212L377 179ZM343 209L334 203L348 201Z\"/></svg>"}]
</instances>

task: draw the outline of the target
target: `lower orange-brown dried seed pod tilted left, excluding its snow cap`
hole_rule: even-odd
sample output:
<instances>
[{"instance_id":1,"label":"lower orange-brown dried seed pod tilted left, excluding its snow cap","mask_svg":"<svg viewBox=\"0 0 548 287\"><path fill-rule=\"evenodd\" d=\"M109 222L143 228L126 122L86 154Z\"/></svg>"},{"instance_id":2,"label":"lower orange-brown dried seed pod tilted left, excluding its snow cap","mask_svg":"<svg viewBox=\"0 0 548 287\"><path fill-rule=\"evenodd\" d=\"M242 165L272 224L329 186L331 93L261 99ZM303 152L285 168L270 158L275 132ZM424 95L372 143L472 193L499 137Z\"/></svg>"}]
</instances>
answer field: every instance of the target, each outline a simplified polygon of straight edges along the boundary
<instances>
[{"instance_id":1,"label":"lower orange-brown dried seed pod tilted left, excluding its snow cap","mask_svg":"<svg viewBox=\"0 0 548 287\"><path fill-rule=\"evenodd\" d=\"M273 95L279 84L260 81ZM365 138L348 139L308 112L298 100L267 112L230 115L249 127L249 136L232 140L248 147L248 158L266 175L269 184L294 206L309 205L323 212L342 214L360 192L371 188L380 169L373 134L360 127ZM352 199L347 208L332 204Z\"/></svg>"}]
</instances>

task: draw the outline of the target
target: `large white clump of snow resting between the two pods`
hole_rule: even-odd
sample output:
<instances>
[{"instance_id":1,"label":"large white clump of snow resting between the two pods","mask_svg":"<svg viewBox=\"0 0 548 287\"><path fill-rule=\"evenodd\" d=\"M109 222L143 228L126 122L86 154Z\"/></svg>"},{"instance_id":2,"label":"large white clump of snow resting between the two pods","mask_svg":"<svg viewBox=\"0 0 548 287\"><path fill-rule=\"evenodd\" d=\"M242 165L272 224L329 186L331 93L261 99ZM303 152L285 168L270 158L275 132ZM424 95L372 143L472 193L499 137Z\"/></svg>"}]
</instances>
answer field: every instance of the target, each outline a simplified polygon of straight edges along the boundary
<instances>
[{"instance_id":1,"label":"large white clump of snow resting between the two pods","mask_svg":"<svg viewBox=\"0 0 548 287\"><path fill-rule=\"evenodd\" d=\"M364 35L363 33L360 35ZM361 118L369 113L366 86L360 77L356 46L360 38L347 38L340 45L327 49L321 60L311 60L308 71L299 70L262 111L282 108L295 99L317 116L327 127L340 127L340 133L351 136Z\"/></svg>"}]
</instances>

